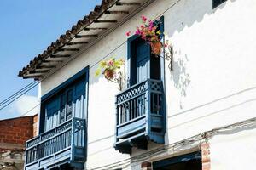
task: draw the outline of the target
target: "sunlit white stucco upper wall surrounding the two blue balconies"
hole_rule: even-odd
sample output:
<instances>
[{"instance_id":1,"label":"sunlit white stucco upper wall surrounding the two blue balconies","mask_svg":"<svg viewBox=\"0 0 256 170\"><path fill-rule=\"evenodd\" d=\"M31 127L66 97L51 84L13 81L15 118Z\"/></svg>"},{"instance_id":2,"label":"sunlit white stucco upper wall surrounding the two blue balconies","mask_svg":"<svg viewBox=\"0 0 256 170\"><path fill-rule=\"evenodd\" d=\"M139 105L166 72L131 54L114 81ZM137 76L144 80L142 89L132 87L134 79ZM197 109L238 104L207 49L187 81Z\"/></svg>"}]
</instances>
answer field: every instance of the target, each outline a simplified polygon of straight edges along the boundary
<instances>
[{"instance_id":1,"label":"sunlit white stucco upper wall surrounding the two blue balconies","mask_svg":"<svg viewBox=\"0 0 256 170\"><path fill-rule=\"evenodd\" d=\"M95 77L94 72L98 60L126 41L125 32L135 29L141 14L155 19L165 11L166 37L170 38L175 50L171 73L166 64L166 144L255 116L255 8L254 0L229 0L213 10L212 0L155 1L43 81L42 95L90 65L89 150L86 167L101 167L130 157L113 149L114 95L118 93L117 85L107 82L103 77ZM124 44L108 57L125 59L126 54ZM221 139L226 138L235 137L227 135ZM217 158L218 146L224 145L215 140L218 139L214 139L214 142L212 139L212 164L219 161L231 163L224 161L227 159L224 156ZM230 147L232 144L236 147L241 140L230 142ZM248 141L251 140L248 138ZM229 141L227 139L225 143ZM137 152L144 150L134 150L133 155ZM253 151L250 153L254 154ZM230 169L225 166L230 165L219 169ZM217 165L213 165L213 169L218 169Z\"/></svg>"}]
</instances>

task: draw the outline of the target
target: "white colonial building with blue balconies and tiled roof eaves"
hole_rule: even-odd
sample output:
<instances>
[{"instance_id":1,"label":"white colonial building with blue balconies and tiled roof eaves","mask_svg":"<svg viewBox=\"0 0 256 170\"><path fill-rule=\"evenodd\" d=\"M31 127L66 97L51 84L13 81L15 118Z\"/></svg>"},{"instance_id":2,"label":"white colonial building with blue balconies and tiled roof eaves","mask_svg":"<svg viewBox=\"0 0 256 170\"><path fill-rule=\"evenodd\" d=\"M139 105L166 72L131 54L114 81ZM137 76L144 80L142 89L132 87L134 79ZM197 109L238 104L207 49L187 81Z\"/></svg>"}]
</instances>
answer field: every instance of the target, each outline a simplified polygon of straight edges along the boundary
<instances>
[{"instance_id":1,"label":"white colonial building with blue balconies and tiled roof eaves","mask_svg":"<svg viewBox=\"0 0 256 170\"><path fill-rule=\"evenodd\" d=\"M142 15L171 44L158 57L125 35ZM253 169L255 31L254 0L102 0L19 73L40 82L25 169ZM112 57L121 92L95 76Z\"/></svg>"}]
</instances>

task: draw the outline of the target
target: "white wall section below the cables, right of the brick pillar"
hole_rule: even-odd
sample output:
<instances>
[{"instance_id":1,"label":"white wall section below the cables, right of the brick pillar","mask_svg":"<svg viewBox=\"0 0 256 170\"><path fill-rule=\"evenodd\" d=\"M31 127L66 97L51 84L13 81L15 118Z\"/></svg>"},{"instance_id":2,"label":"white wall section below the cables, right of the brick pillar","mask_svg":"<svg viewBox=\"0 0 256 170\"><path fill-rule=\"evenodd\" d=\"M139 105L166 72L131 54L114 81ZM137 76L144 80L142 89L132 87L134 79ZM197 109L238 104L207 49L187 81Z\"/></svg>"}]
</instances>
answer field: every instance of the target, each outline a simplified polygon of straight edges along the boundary
<instances>
[{"instance_id":1,"label":"white wall section below the cables, right of the brick pillar","mask_svg":"<svg viewBox=\"0 0 256 170\"><path fill-rule=\"evenodd\" d=\"M256 161L255 126L242 131L220 133L210 142L212 170L253 169Z\"/></svg>"}]
</instances>

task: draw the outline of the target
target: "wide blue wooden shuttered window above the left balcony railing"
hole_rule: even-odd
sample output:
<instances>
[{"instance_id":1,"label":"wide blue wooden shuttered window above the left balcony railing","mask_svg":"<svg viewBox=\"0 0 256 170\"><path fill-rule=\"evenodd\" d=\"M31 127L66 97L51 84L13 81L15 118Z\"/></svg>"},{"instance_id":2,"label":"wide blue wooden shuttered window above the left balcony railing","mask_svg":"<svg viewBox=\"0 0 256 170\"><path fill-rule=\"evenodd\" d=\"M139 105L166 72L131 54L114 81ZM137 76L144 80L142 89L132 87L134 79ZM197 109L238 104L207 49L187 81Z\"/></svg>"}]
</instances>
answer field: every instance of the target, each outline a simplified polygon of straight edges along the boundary
<instances>
[{"instance_id":1,"label":"wide blue wooden shuttered window above the left balcony railing","mask_svg":"<svg viewBox=\"0 0 256 170\"><path fill-rule=\"evenodd\" d=\"M88 70L88 69L87 69ZM88 72L88 71L87 71ZM39 133L49 131L72 117L86 119L88 73L78 73L42 97Z\"/></svg>"}]
</instances>

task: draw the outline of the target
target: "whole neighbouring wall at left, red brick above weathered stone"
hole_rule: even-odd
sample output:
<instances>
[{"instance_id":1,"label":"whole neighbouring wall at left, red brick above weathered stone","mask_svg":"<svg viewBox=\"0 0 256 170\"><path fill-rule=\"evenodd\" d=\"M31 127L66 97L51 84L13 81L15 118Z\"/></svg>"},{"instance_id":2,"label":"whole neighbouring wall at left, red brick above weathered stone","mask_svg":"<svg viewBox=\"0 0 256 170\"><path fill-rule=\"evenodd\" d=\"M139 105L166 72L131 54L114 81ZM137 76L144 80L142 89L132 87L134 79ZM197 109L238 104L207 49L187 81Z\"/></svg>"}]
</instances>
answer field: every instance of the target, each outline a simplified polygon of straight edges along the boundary
<instances>
[{"instance_id":1,"label":"whole neighbouring wall at left, red brick above weathered stone","mask_svg":"<svg viewBox=\"0 0 256 170\"><path fill-rule=\"evenodd\" d=\"M37 133L37 122L37 115L0 121L0 169L23 169L25 143Z\"/></svg>"}]
</instances>

